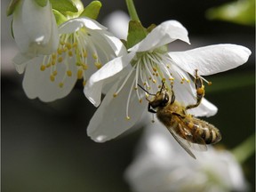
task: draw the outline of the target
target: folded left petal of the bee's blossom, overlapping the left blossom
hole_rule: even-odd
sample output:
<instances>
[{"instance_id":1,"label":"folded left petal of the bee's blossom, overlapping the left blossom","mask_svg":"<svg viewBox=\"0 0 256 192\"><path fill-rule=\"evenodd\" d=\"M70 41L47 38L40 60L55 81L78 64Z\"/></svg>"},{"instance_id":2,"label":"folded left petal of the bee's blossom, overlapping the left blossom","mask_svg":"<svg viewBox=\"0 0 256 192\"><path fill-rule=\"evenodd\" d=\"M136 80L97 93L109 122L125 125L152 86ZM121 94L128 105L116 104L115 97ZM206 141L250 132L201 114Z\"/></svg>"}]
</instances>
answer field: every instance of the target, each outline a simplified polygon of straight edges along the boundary
<instances>
[{"instance_id":1,"label":"folded left petal of the bee's blossom, overlapping the left blossom","mask_svg":"<svg viewBox=\"0 0 256 192\"><path fill-rule=\"evenodd\" d=\"M100 105L100 98L103 84L117 80L120 77L120 72L125 73L124 68L130 65L130 61L134 57L135 53L131 52L123 57L110 60L100 70L95 72L88 83L84 86L84 94L88 100L92 102L95 107Z\"/></svg>"}]
</instances>

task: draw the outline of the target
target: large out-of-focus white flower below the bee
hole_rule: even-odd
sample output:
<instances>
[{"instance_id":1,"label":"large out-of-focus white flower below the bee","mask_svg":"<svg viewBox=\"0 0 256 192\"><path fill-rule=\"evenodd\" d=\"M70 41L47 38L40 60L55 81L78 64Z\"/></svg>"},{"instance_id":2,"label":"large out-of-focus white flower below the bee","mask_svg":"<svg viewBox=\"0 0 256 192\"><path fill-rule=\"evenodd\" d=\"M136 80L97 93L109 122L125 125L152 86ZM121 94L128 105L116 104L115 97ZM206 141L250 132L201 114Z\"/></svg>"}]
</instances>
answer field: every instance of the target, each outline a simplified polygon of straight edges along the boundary
<instances>
[{"instance_id":1,"label":"large out-of-focus white flower below the bee","mask_svg":"<svg viewBox=\"0 0 256 192\"><path fill-rule=\"evenodd\" d=\"M146 127L138 154L125 172L134 192L247 191L241 166L227 150L208 147L194 160L162 124Z\"/></svg>"}]
</instances>

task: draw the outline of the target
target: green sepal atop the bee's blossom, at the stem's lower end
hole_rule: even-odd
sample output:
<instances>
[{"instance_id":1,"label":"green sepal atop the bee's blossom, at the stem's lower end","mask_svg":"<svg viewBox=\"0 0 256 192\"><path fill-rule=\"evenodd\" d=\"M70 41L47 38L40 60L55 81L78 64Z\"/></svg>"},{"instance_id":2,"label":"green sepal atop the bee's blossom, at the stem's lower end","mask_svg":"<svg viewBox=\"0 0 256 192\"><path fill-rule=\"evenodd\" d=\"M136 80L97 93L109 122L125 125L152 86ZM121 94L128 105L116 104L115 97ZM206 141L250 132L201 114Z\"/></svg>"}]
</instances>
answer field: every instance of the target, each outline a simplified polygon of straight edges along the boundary
<instances>
[{"instance_id":1,"label":"green sepal atop the bee's blossom, at the stem's lower end","mask_svg":"<svg viewBox=\"0 0 256 192\"><path fill-rule=\"evenodd\" d=\"M148 30L141 25L140 21L130 20L126 48L129 49L138 44L147 35Z\"/></svg>"}]
</instances>

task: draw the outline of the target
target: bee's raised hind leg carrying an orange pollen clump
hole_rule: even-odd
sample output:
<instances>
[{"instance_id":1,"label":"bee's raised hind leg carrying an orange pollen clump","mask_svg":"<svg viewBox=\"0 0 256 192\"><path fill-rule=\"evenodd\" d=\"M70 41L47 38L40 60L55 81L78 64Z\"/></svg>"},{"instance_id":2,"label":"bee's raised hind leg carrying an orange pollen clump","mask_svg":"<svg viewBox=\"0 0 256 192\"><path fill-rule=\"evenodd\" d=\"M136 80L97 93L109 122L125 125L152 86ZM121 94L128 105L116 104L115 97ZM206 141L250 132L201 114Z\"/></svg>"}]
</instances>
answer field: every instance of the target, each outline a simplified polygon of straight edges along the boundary
<instances>
[{"instance_id":1,"label":"bee's raised hind leg carrying an orange pollen clump","mask_svg":"<svg viewBox=\"0 0 256 192\"><path fill-rule=\"evenodd\" d=\"M197 75L197 69L195 70L195 87L196 87L196 104L188 105L186 109L189 108L196 108L200 103L201 100L204 98L204 83L203 79Z\"/></svg>"}]
</instances>

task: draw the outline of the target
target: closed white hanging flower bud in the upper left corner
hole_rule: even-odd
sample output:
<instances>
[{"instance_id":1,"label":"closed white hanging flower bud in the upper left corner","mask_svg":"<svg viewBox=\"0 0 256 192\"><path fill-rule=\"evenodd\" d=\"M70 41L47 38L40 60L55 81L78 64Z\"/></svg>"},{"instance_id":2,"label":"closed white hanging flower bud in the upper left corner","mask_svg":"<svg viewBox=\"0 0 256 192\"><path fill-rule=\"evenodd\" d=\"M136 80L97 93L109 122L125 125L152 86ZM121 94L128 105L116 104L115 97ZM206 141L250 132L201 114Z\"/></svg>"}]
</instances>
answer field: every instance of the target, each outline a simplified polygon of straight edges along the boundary
<instances>
[{"instance_id":1,"label":"closed white hanging flower bud in the upper left corner","mask_svg":"<svg viewBox=\"0 0 256 192\"><path fill-rule=\"evenodd\" d=\"M20 52L27 57L57 50L58 27L49 1L42 7L34 0L21 0L13 12L12 31Z\"/></svg>"}]
</instances>

